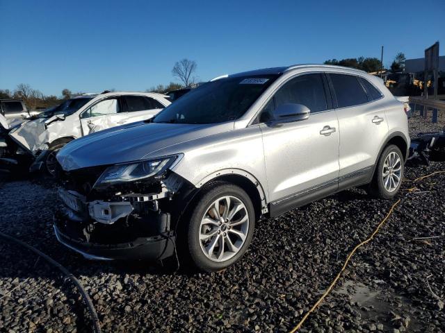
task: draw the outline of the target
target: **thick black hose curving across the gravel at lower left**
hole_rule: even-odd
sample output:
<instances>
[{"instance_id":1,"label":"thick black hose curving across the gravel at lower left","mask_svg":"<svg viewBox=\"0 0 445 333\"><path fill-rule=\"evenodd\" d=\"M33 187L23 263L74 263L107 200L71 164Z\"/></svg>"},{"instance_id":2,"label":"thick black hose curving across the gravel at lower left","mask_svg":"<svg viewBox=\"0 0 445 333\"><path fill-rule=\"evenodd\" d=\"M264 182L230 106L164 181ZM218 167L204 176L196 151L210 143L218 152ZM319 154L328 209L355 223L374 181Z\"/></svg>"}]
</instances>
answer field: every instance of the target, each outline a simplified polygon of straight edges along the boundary
<instances>
[{"instance_id":1,"label":"thick black hose curving across the gravel at lower left","mask_svg":"<svg viewBox=\"0 0 445 333\"><path fill-rule=\"evenodd\" d=\"M20 245L24 246L25 248L28 248L29 250L33 251L33 253L40 255L40 257L47 260L47 262L49 262L50 264L53 264L54 266L56 266L68 278L70 278L70 280L72 280L72 282L74 282L74 284L76 285L77 289L79 289L79 292L81 293L81 295L83 296L83 299L86 302L86 305L87 305L88 310L90 311L90 315L92 317L92 323L93 323L95 332L96 333L101 332L99 318L97 317L95 307L92 305L90 296L88 296L88 293L86 293L85 289L83 289L81 282L79 282L79 280L77 280L76 277L74 275L72 275L72 273L70 273L70 271L67 270L67 268L60 265L58 262L56 262L56 260L52 259L48 255L45 255L44 253L42 253L42 251L38 250L37 248L34 248L33 246L31 246L29 244L24 243L23 241L20 241L19 239L9 236L8 234L3 234L3 232L1 232L1 231L0 231L0 237L3 237L4 239L7 239L8 241L13 241L17 244L20 244Z\"/></svg>"}]
</instances>

